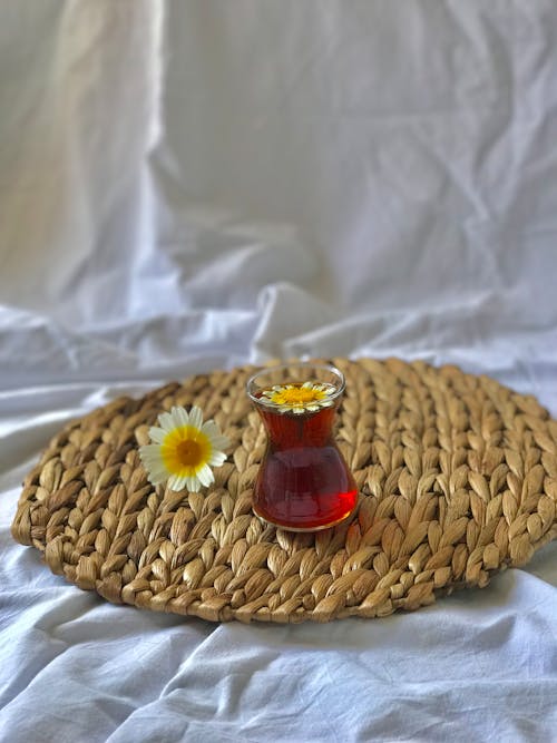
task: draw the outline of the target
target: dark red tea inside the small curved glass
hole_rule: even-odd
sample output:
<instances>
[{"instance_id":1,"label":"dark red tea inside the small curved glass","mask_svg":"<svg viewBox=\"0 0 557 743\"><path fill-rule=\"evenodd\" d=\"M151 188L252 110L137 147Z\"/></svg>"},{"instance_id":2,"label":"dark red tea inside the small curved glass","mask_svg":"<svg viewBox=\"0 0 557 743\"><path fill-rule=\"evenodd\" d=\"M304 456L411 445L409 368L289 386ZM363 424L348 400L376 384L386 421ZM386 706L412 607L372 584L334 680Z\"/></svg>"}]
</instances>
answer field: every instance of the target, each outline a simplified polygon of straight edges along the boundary
<instances>
[{"instance_id":1,"label":"dark red tea inside the small curved glass","mask_svg":"<svg viewBox=\"0 0 557 743\"><path fill-rule=\"evenodd\" d=\"M289 385L291 398L302 384ZM266 521L293 530L333 526L354 509L354 479L333 439L336 404L278 411L265 402L268 389L256 398L268 433L267 451L255 485L254 511Z\"/></svg>"}]
</instances>

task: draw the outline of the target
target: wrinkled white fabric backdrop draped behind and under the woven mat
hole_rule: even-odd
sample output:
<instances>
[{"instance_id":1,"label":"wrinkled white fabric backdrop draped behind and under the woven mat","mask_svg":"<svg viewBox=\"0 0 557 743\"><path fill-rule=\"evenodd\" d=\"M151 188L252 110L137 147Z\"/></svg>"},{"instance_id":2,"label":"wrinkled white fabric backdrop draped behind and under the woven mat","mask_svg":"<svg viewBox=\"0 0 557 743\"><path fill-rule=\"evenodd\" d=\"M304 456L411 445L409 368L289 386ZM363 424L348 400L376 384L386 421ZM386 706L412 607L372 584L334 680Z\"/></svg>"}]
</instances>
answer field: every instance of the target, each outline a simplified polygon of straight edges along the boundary
<instances>
[{"instance_id":1,"label":"wrinkled white fabric backdrop draped behind and under the woven mat","mask_svg":"<svg viewBox=\"0 0 557 743\"><path fill-rule=\"evenodd\" d=\"M557 548L412 615L115 607L9 525L67 420L245 361L458 363L557 414L551 0L0 3L0 739L549 741Z\"/></svg>"}]
</instances>

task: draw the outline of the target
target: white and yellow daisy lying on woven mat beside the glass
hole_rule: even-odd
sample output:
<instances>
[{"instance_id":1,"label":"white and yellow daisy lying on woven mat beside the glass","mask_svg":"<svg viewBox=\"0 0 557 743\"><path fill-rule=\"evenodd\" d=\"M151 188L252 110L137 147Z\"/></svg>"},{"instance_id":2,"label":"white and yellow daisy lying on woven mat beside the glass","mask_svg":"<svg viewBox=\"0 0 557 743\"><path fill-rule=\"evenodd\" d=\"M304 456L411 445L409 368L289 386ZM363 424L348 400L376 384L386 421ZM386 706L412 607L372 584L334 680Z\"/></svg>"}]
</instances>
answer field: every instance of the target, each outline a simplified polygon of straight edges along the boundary
<instances>
[{"instance_id":1,"label":"white and yellow daisy lying on woven mat beside the glass","mask_svg":"<svg viewBox=\"0 0 557 743\"><path fill-rule=\"evenodd\" d=\"M215 481L212 467L221 467L226 459L223 449L229 444L218 426L193 407L173 408L158 417L159 427L149 429L154 443L139 448L139 457L147 470L149 482L160 485L168 480L170 490L187 488L197 492L201 486Z\"/></svg>"}]
</instances>

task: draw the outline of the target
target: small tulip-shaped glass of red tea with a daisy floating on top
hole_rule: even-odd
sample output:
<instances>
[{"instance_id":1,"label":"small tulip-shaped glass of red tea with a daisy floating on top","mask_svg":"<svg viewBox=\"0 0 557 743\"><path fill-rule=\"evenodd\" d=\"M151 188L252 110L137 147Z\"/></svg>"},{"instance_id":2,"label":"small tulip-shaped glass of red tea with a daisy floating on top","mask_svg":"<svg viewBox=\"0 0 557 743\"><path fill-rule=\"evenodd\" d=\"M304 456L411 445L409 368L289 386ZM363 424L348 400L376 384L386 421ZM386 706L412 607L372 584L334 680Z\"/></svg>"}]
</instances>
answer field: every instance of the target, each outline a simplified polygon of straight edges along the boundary
<instances>
[{"instance_id":1,"label":"small tulip-shaped glass of red tea with a daisy floating on top","mask_svg":"<svg viewBox=\"0 0 557 743\"><path fill-rule=\"evenodd\" d=\"M344 375L313 363L263 369L247 382L267 446L253 510L290 531L316 531L354 510L358 488L333 437Z\"/></svg>"}]
</instances>

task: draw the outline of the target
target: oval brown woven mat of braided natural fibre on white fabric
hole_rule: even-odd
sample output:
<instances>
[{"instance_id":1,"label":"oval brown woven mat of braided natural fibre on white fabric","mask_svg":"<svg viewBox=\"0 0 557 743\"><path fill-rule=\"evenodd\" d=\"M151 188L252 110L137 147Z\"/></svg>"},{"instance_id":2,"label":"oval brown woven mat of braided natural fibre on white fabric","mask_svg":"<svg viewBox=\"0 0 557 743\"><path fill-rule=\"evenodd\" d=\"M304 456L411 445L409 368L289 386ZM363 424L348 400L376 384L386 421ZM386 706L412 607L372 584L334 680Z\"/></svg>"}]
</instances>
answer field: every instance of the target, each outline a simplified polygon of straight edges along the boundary
<instances>
[{"instance_id":1,"label":"oval brown woven mat of braided natural fibre on white fabric","mask_svg":"<svg viewBox=\"0 0 557 743\"><path fill-rule=\"evenodd\" d=\"M531 397L455 366L341 368L336 437L360 488L349 522L290 534L251 511L265 436L253 368L121 398L65 428L25 481L14 538L110 602L214 622L385 616L483 587L557 534L557 422ZM137 448L173 404L232 441L206 492L149 485Z\"/></svg>"}]
</instances>

